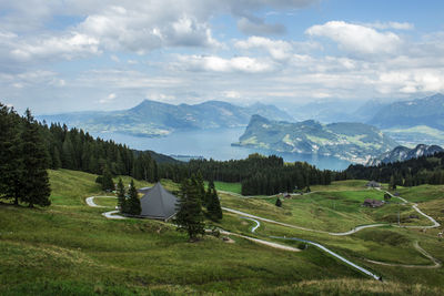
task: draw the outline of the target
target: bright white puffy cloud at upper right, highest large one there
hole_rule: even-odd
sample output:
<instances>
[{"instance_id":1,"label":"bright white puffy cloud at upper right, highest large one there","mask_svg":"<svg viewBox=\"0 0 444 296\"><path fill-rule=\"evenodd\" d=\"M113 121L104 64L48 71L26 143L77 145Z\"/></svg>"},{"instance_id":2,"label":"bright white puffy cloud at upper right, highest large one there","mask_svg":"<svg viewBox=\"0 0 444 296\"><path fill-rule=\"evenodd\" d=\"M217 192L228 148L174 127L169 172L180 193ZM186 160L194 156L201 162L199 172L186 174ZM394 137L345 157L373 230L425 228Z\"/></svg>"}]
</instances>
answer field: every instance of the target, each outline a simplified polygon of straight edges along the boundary
<instances>
[{"instance_id":1,"label":"bright white puffy cloud at upper right, highest large one there","mask_svg":"<svg viewBox=\"0 0 444 296\"><path fill-rule=\"evenodd\" d=\"M335 41L345 51L364 54L394 54L402 44L402 40L393 32L379 32L372 28L330 21L316 24L305 31L309 35L326 37Z\"/></svg>"}]
</instances>

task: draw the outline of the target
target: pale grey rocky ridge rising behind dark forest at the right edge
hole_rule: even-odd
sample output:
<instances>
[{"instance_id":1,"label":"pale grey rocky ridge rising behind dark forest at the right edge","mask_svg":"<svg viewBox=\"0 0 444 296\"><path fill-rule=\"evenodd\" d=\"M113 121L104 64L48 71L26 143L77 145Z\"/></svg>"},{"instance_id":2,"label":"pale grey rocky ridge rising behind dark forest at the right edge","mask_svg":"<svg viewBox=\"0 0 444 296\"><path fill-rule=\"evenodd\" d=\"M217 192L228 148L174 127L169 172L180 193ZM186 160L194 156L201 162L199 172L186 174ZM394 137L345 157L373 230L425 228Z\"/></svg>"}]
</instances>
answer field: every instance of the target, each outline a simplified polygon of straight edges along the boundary
<instances>
[{"instance_id":1,"label":"pale grey rocky ridge rising behind dark forest at the right edge","mask_svg":"<svg viewBox=\"0 0 444 296\"><path fill-rule=\"evenodd\" d=\"M406 146L397 146L394 150L383 153L382 155L371 159L366 165L374 166L380 165L381 163L394 163L394 162L402 162L412 159L417 159L421 156L430 156L438 152L444 152L438 145L425 145L418 144L414 149L408 149Z\"/></svg>"}]
</instances>

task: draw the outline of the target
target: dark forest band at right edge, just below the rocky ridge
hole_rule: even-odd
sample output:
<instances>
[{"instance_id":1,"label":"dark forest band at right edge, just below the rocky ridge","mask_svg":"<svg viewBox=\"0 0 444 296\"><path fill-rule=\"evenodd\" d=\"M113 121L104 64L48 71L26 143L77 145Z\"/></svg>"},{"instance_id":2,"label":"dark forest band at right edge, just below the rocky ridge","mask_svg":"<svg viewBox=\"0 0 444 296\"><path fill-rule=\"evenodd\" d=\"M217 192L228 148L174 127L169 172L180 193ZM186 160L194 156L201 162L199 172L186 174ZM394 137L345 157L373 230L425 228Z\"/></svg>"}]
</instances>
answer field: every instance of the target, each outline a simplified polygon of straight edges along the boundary
<instances>
[{"instance_id":1,"label":"dark forest band at right edge, just below the rocky ridge","mask_svg":"<svg viewBox=\"0 0 444 296\"><path fill-rule=\"evenodd\" d=\"M335 178L374 180L389 183L391 187L444 184L444 153L440 152L403 162L382 163L375 166L354 164L336 174Z\"/></svg>"}]
</instances>

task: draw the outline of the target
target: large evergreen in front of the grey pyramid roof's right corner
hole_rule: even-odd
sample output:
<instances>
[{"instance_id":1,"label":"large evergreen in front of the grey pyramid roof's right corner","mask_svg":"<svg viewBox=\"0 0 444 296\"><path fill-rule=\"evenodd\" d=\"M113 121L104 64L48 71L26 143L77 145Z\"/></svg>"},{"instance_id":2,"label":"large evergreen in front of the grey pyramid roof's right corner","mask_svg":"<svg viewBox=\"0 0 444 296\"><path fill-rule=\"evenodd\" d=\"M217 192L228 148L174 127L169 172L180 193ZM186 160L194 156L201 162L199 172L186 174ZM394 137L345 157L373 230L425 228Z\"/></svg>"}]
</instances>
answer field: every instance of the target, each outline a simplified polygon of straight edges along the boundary
<instances>
[{"instance_id":1,"label":"large evergreen in front of the grey pyramid roof's right corner","mask_svg":"<svg viewBox=\"0 0 444 296\"><path fill-rule=\"evenodd\" d=\"M182 181L179 197L179 211L174 223L178 225L178 231L186 232L190 239L194 241L198 235L203 235L205 232L201 196L194 177Z\"/></svg>"}]
</instances>

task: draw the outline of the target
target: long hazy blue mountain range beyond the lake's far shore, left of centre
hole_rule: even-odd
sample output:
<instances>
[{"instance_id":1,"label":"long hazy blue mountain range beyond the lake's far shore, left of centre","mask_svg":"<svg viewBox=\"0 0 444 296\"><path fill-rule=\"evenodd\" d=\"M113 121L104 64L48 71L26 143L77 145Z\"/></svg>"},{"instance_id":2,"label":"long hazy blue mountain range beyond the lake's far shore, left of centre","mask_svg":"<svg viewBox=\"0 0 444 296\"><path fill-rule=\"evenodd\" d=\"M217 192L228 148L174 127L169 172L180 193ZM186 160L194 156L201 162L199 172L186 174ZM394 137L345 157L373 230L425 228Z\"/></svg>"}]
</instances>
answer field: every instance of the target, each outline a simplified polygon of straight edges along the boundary
<instances>
[{"instance_id":1,"label":"long hazy blue mountain range beyond the lake's far shore, left of centre","mask_svg":"<svg viewBox=\"0 0 444 296\"><path fill-rule=\"evenodd\" d=\"M37 116L40 121L65 123L89 132L115 132L135 136L163 136L178 130L240 127L253 114L273 120L293 118L274 105L239 106L221 101L200 104L167 104L145 100L139 105L112 112L75 112Z\"/></svg>"}]
</instances>

